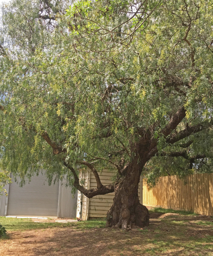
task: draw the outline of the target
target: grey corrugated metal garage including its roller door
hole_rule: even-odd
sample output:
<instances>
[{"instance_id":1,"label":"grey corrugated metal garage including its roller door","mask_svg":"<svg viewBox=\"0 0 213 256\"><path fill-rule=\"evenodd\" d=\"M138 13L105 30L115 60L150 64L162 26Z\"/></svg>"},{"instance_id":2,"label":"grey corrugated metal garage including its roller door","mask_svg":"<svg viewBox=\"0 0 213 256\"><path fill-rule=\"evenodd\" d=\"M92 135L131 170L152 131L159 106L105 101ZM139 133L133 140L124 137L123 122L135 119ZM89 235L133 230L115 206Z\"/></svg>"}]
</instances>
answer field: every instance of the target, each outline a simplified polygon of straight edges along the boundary
<instances>
[{"instance_id":1,"label":"grey corrugated metal garage including its roller door","mask_svg":"<svg viewBox=\"0 0 213 256\"><path fill-rule=\"evenodd\" d=\"M66 176L51 186L47 183L45 170L30 182L20 187L20 179L7 184L8 196L0 197L0 216L37 216L75 218L77 210L77 191L67 185Z\"/></svg>"}]
</instances>

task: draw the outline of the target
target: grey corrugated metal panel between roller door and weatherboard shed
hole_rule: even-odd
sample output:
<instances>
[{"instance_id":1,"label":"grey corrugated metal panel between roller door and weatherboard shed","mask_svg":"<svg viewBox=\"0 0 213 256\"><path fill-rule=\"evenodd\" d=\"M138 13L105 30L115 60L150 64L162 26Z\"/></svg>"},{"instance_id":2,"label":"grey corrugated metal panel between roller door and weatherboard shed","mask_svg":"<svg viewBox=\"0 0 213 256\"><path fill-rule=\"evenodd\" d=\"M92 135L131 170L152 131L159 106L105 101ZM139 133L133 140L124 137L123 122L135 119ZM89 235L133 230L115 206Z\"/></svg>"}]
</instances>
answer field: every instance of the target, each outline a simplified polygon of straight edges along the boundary
<instances>
[{"instance_id":1,"label":"grey corrugated metal panel between roller door and weatherboard shed","mask_svg":"<svg viewBox=\"0 0 213 256\"><path fill-rule=\"evenodd\" d=\"M67 175L60 181L60 185L58 218L76 218L77 191L67 185Z\"/></svg>"}]
</instances>

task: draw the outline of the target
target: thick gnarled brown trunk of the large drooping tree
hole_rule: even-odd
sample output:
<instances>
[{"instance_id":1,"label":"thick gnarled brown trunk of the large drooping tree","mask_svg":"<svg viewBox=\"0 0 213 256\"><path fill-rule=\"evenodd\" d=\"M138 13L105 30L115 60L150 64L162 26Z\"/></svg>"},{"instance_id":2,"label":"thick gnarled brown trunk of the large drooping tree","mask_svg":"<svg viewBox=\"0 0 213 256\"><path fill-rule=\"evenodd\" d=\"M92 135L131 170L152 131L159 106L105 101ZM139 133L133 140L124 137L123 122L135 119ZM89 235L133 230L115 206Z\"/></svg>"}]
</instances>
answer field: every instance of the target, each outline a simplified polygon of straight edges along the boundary
<instances>
[{"instance_id":1,"label":"thick gnarled brown trunk of the large drooping tree","mask_svg":"<svg viewBox=\"0 0 213 256\"><path fill-rule=\"evenodd\" d=\"M137 163L130 164L126 176L116 185L113 205L107 212L107 227L130 230L133 224L139 227L149 225L149 211L138 198L141 170Z\"/></svg>"}]
</instances>

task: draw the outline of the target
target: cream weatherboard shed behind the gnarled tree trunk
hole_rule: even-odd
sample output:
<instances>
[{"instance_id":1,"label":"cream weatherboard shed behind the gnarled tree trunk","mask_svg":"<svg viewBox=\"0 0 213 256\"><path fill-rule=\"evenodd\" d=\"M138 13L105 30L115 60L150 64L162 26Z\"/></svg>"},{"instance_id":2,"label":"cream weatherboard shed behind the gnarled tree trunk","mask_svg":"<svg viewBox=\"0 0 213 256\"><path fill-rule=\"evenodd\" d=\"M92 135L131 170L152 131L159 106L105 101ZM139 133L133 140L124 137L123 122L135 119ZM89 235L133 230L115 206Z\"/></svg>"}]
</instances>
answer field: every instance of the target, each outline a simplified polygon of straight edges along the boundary
<instances>
[{"instance_id":1,"label":"cream weatherboard shed behind the gnarled tree trunk","mask_svg":"<svg viewBox=\"0 0 213 256\"><path fill-rule=\"evenodd\" d=\"M100 176L101 183L103 185L107 185L109 183L112 183L111 177L113 174L115 174L112 171L109 171L107 169L104 169L102 172L98 173ZM83 180L84 187L87 189L96 188L96 180L94 177L93 172L91 172L90 169L84 169L80 172L80 180ZM140 180L139 187L138 187L138 195L140 203L142 203L142 179ZM107 216L107 212L110 209L114 193L109 193L106 195L97 195L92 198L87 198L84 195L82 195L78 191L78 204L77 204L77 217L80 218L80 212L81 212L81 201L82 201L82 220L88 220L89 218L102 218Z\"/></svg>"}]
</instances>

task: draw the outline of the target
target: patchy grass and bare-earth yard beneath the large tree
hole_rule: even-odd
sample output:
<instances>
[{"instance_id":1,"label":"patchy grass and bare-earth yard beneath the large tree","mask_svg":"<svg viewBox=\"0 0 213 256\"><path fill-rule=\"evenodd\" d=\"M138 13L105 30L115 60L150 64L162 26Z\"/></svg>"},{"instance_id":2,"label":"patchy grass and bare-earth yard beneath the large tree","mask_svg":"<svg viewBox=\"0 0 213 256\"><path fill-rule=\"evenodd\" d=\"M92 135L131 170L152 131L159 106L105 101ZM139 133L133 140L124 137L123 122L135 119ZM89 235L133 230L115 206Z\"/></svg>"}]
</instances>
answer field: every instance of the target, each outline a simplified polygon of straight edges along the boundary
<instances>
[{"instance_id":1,"label":"patchy grass and bare-earth yard beneath the large tree","mask_svg":"<svg viewBox=\"0 0 213 256\"><path fill-rule=\"evenodd\" d=\"M150 212L149 227L129 232L104 228L104 220L35 223L0 218L8 231L0 240L0 255L213 256L212 217L159 208Z\"/></svg>"}]
</instances>

